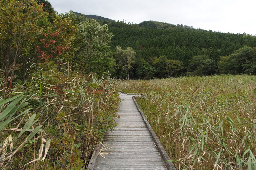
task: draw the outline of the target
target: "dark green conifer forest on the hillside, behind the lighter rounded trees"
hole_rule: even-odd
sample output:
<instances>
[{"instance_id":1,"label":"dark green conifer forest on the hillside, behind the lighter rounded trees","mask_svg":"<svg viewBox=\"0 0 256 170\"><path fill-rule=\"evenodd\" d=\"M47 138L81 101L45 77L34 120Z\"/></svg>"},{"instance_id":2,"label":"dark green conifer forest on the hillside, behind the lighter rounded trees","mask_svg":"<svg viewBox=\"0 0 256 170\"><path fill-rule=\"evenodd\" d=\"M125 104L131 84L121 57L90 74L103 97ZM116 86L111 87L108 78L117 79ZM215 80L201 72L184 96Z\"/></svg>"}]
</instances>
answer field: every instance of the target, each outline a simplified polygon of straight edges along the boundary
<instances>
[{"instance_id":1,"label":"dark green conifer forest on the hillside, behind the lighter rounded trees","mask_svg":"<svg viewBox=\"0 0 256 170\"><path fill-rule=\"evenodd\" d=\"M256 46L255 36L212 32L211 30L194 29L187 25L156 21L144 21L140 24L109 21L108 25L110 32L114 35L111 43L112 51L116 46L123 49L128 46L133 48L137 54L136 59L143 58L152 67L155 67L157 70L155 77L166 77L168 73L166 70L154 66L153 62L149 61L150 58L167 56L167 60L179 60L183 63L184 69L178 75L184 75L185 72L192 71L189 65L194 56L208 56L207 59L211 59L215 63L213 61L207 61L207 64L202 63L202 67L196 74L216 74L219 73L216 62L220 61L220 56L230 55L245 45ZM139 64L135 65L136 67L131 70L134 73L131 78L142 78L143 74L137 71L137 69L141 70L138 68ZM192 72L198 66L193 68Z\"/></svg>"}]
</instances>

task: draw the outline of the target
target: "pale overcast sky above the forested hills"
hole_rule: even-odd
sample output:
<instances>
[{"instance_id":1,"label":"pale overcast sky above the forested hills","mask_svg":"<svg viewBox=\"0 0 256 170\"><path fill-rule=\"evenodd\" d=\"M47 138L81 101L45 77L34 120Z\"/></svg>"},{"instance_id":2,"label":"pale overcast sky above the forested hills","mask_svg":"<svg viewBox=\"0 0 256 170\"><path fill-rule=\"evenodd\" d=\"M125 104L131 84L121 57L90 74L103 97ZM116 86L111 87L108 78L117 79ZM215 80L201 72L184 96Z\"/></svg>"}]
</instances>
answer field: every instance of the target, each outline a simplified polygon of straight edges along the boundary
<instances>
[{"instance_id":1,"label":"pale overcast sky above the forested hills","mask_svg":"<svg viewBox=\"0 0 256 170\"><path fill-rule=\"evenodd\" d=\"M59 13L69 10L112 20L153 20L205 30L256 35L255 0L48 0Z\"/></svg>"}]
</instances>

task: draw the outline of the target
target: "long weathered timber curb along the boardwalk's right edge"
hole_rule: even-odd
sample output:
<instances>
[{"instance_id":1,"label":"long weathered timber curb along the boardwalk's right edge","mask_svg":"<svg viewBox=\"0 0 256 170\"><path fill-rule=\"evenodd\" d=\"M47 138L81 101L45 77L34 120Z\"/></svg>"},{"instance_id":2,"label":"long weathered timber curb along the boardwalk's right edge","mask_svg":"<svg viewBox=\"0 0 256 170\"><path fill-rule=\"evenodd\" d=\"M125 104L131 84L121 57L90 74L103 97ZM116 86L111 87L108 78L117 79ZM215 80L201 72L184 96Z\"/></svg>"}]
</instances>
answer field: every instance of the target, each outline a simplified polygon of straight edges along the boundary
<instances>
[{"instance_id":1,"label":"long weathered timber curb along the boardwalk's right edge","mask_svg":"<svg viewBox=\"0 0 256 170\"><path fill-rule=\"evenodd\" d=\"M137 103L136 100L135 100L135 97L132 96L132 99L133 99L133 101L135 102L137 109L138 109L139 112L141 113L141 115L142 115L142 117L143 117L143 120L144 120L145 124L147 125L147 128L148 128L148 130L150 131L150 133L151 133L151 135L152 135L154 141L156 142L156 146L157 146L157 148L159 149L160 155L161 155L162 159L164 160L164 162L166 163L167 168L168 168L169 170L176 170L174 164L173 164L171 161L168 161L168 160L170 160L170 157L169 157L168 154L166 153L164 147L163 147L162 144L160 143L160 141L159 141L158 137L156 136L154 130L153 130L152 127L150 126L149 122L147 121L146 116L144 115L144 113L143 113L142 110L140 109L138 103Z\"/></svg>"}]
</instances>

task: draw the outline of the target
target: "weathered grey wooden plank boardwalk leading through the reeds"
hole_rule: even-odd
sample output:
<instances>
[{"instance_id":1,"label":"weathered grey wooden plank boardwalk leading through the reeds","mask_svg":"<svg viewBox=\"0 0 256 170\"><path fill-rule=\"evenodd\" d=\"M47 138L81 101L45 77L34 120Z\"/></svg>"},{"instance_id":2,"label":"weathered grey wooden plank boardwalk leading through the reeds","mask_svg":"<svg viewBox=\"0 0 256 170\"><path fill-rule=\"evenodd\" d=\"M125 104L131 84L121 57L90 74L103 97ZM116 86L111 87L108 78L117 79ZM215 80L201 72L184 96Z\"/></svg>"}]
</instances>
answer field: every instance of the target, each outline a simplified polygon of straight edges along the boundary
<instances>
[{"instance_id":1,"label":"weathered grey wooden plank boardwalk leading through the reeds","mask_svg":"<svg viewBox=\"0 0 256 170\"><path fill-rule=\"evenodd\" d=\"M93 169L170 169L161 159L132 95L120 94L119 119L103 138ZM175 169L175 168L174 168Z\"/></svg>"}]
</instances>

